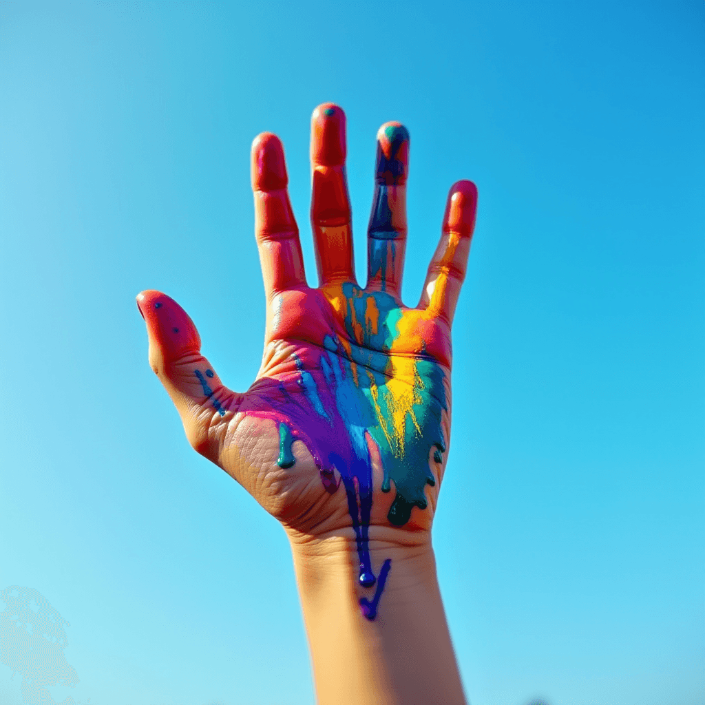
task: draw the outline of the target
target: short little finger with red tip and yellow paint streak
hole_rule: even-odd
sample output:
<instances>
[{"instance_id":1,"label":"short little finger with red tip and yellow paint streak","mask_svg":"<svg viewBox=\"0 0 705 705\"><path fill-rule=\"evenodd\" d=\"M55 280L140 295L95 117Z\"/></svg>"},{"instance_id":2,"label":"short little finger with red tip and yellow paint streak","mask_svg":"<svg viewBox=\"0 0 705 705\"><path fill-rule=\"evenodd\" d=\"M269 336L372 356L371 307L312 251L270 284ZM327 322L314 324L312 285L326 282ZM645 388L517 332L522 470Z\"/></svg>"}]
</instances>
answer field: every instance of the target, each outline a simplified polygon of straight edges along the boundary
<instances>
[{"instance_id":1,"label":"short little finger with red tip and yellow paint streak","mask_svg":"<svg viewBox=\"0 0 705 705\"><path fill-rule=\"evenodd\" d=\"M419 308L453 321L460 287L465 279L467 255L475 227L477 187L458 181L450 187L441 241L429 264Z\"/></svg>"}]
</instances>

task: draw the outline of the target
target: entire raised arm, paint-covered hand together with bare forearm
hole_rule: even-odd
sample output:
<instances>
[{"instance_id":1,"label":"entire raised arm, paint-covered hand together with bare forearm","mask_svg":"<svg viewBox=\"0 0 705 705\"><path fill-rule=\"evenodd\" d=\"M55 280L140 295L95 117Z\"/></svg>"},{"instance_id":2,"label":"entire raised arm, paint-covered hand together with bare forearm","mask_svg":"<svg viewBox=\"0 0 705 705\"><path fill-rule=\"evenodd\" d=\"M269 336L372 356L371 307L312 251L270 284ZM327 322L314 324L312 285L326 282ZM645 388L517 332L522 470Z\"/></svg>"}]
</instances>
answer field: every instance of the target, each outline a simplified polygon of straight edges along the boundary
<instances>
[{"instance_id":1,"label":"entire raised arm, paint-covered hand together with bare forearm","mask_svg":"<svg viewBox=\"0 0 705 705\"><path fill-rule=\"evenodd\" d=\"M311 220L320 286L306 283L278 137L252 145L267 321L245 393L223 386L185 311L147 290L149 362L193 448L286 529L320 703L464 703L431 548L450 440L450 325L477 209L450 188L422 298L400 300L409 138L378 133L367 285L353 269L345 114L312 116Z\"/></svg>"}]
</instances>

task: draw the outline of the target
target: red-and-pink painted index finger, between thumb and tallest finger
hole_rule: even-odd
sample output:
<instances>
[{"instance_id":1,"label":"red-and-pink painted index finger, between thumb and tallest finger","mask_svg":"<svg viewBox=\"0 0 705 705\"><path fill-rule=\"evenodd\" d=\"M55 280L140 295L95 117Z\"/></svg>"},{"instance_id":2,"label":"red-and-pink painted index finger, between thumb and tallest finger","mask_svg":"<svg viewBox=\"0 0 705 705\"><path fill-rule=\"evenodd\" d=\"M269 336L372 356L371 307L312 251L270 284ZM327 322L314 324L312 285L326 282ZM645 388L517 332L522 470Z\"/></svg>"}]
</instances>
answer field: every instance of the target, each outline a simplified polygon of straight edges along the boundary
<instances>
[{"instance_id":1,"label":"red-and-pink painted index finger, between thumb and tallest finger","mask_svg":"<svg viewBox=\"0 0 705 705\"><path fill-rule=\"evenodd\" d=\"M306 285L299 231L286 190L284 149L276 135L262 133L252 142L252 191L255 237L267 298Z\"/></svg>"}]
</instances>

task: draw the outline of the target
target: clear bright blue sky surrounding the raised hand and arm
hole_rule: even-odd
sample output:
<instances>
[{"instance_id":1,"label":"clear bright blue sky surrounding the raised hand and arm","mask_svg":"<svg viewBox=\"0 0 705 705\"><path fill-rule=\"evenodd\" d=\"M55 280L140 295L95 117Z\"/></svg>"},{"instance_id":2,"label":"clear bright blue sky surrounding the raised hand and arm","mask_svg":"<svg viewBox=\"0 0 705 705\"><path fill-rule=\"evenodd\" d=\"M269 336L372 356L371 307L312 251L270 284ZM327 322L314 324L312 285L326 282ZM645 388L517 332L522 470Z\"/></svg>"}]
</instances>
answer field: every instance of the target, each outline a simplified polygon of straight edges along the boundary
<instances>
[{"instance_id":1,"label":"clear bright blue sky surrounding the raised hand and arm","mask_svg":"<svg viewBox=\"0 0 705 705\"><path fill-rule=\"evenodd\" d=\"M284 142L315 283L309 118L334 101L358 271L376 130L410 130L407 303L448 187L479 188L434 525L472 705L703 704L704 20L696 0L0 3L0 591L71 624L80 682L56 701L313 702L283 532L188 446L134 298L176 298L247 388L250 144Z\"/></svg>"}]
</instances>

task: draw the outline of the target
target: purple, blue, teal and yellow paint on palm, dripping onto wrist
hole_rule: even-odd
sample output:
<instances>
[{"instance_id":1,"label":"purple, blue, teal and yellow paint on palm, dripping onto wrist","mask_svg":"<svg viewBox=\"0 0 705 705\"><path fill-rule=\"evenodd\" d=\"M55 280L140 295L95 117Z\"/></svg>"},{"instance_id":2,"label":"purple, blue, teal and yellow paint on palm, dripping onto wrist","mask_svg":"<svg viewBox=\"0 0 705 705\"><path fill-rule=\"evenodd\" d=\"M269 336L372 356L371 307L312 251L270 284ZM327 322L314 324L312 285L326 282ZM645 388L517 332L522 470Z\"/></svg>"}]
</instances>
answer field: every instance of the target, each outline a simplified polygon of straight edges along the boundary
<instances>
[{"instance_id":1,"label":"purple, blue, teal and yellow paint on palm, dripping onto wrist","mask_svg":"<svg viewBox=\"0 0 705 705\"><path fill-rule=\"evenodd\" d=\"M293 356L295 372L257 380L238 410L278 424L280 467L292 467L292 443L302 441L326 491L337 491L337 471L355 529L360 584L372 587L371 448L381 458L382 491L393 487L396 493L388 521L403 526L414 507L427 506L424 489L435 484L431 449L435 458L446 449L441 430L441 414L447 408L444 375L425 354L420 334L416 355L396 350L402 333L408 345L409 333L391 295L350 282L324 288L323 294L330 316L338 319L333 326L337 333L326 334L320 345L302 345ZM202 374L197 376L204 384ZM367 618L374 619L377 601L379 595L363 610Z\"/></svg>"}]
</instances>

